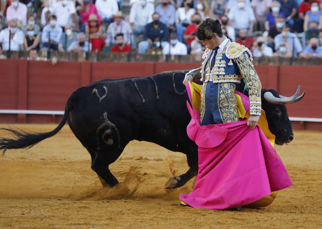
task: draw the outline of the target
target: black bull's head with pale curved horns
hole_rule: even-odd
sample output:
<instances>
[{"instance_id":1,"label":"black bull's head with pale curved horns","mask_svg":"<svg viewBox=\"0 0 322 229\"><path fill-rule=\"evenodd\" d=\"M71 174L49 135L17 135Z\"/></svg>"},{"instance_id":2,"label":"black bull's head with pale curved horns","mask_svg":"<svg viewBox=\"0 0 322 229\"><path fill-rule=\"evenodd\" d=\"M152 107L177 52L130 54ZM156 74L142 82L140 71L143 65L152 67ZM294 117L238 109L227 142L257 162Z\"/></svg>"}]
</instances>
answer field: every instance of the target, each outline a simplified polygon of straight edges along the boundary
<instances>
[{"instance_id":1,"label":"black bull's head with pale curved horns","mask_svg":"<svg viewBox=\"0 0 322 229\"><path fill-rule=\"evenodd\" d=\"M298 96L299 92L300 86L298 86L298 91L295 95L291 97L279 95L273 89L262 90L262 108L266 112L270 132L275 135L275 143L278 145L288 144L294 138L285 104L298 102L303 99L305 91L301 96Z\"/></svg>"}]
</instances>

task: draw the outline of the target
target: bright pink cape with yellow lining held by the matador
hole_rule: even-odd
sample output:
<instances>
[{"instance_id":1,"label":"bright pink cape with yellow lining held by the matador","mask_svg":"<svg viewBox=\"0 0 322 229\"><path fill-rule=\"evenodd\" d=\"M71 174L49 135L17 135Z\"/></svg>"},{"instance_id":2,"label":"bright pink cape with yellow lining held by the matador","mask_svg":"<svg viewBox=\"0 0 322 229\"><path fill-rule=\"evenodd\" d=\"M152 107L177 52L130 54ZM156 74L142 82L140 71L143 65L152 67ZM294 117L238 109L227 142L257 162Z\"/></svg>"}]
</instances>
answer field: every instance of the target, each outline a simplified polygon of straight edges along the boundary
<instances>
[{"instance_id":1,"label":"bright pink cape with yellow lining held by the matador","mask_svg":"<svg viewBox=\"0 0 322 229\"><path fill-rule=\"evenodd\" d=\"M262 110L258 123L270 140L259 125L253 130L247 126L249 99L237 91L242 121L200 126L193 101L195 97L198 100L194 96L196 85L189 82L186 86L193 104L191 107L187 101L191 115L187 134L198 145L199 170L193 192L181 194L180 200L194 208L210 209L269 205L276 191L292 182L273 147L274 135L269 132L265 112Z\"/></svg>"}]
</instances>

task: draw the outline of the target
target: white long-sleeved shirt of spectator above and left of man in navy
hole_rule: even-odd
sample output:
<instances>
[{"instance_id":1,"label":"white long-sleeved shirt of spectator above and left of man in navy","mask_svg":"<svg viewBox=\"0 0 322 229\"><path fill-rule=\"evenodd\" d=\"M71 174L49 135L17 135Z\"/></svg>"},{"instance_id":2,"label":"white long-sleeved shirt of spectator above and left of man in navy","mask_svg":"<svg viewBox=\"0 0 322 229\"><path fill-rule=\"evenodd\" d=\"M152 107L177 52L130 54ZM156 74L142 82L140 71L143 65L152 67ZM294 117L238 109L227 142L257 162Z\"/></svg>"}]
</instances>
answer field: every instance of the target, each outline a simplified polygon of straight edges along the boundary
<instances>
[{"instance_id":1,"label":"white long-sleeved shirt of spectator above and left of man in navy","mask_svg":"<svg viewBox=\"0 0 322 229\"><path fill-rule=\"evenodd\" d=\"M129 23L134 23L136 26L146 26L152 22L153 13L153 3L147 2L143 8L140 2L136 2L131 6Z\"/></svg>"}]
</instances>

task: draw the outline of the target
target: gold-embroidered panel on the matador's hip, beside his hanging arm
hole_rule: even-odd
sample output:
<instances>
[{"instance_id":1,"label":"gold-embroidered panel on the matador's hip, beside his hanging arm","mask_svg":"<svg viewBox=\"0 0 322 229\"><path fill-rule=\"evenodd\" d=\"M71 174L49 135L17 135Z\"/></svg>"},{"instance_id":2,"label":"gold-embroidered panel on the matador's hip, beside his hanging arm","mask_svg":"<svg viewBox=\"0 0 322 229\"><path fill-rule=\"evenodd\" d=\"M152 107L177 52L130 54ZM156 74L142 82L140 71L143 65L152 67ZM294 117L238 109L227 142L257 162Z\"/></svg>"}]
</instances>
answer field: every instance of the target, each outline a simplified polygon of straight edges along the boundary
<instances>
[{"instance_id":1,"label":"gold-embroidered panel on the matador's hip, beside his hanging arm","mask_svg":"<svg viewBox=\"0 0 322 229\"><path fill-rule=\"evenodd\" d=\"M218 108L223 123L239 121L235 86L235 83L230 82L218 84Z\"/></svg>"}]
</instances>

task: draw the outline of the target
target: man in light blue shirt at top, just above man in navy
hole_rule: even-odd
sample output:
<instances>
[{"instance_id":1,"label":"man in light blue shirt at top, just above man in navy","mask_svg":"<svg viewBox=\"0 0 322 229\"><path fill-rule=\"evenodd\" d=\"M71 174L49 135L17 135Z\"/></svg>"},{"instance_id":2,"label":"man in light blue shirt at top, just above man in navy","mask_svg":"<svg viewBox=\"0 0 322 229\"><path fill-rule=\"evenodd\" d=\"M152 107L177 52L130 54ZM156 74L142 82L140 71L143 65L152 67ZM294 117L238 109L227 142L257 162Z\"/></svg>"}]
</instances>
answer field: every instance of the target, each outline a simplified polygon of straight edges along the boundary
<instances>
[{"instance_id":1,"label":"man in light blue shirt at top, just above man in navy","mask_svg":"<svg viewBox=\"0 0 322 229\"><path fill-rule=\"evenodd\" d=\"M161 0L161 4L156 6L156 13L160 15L160 22L168 27L175 24L175 7L169 0Z\"/></svg>"}]
</instances>

